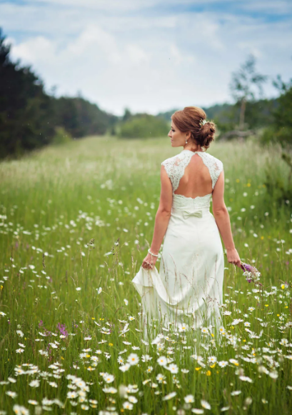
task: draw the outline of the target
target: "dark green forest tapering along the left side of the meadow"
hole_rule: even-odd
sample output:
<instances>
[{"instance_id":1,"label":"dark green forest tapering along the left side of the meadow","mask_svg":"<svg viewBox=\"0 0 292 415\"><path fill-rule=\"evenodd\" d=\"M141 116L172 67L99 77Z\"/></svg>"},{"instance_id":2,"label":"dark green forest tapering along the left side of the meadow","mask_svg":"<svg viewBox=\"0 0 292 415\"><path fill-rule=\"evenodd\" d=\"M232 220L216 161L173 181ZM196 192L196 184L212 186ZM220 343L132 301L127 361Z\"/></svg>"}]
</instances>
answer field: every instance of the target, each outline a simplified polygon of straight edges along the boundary
<instances>
[{"instance_id":1,"label":"dark green forest tapering along the left side of the meadow","mask_svg":"<svg viewBox=\"0 0 292 415\"><path fill-rule=\"evenodd\" d=\"M118 117L81 96L56 98L29 66L10 57L0 29L0 158L56 141L105 134Z\"/></svg>"}]
</instances>

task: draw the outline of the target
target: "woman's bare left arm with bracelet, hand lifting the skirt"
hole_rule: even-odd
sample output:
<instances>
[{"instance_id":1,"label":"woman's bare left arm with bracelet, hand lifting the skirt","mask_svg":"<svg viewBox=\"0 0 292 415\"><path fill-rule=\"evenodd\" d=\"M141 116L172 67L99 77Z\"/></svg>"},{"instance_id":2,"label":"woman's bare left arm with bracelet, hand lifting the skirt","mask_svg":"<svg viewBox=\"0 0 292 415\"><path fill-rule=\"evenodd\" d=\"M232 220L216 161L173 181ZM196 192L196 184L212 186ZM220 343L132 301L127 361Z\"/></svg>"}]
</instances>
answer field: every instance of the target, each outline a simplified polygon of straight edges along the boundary
<instances>
[{"instance_id":1,"label":"woman's bare left arm with bracelet, hand lifting the skirt","mask_svg":"<svg viewBox=\"0 0 292 415\"><path fill-rule=\"evenodd\" d=\"M156 255L159 252L159 249L163 241L163 237L166 234L168 222L171 217L171 206L172 206L172 199L173 199L171 181L168 178L168 175L166 173L166 170L164 169L164 166L161 166L160 178L161 178L160 201L159 201L159 206L158 206L157 213L155 216L153 239L152 239L152 243L150 247L150 251L152 252L152 254L156 254ZM146 264L153 264L155 262L156 262L155 257L148 253L146 258L143 261L142 266L146 268L147 267Z\"/></svg>"}]
</instances>

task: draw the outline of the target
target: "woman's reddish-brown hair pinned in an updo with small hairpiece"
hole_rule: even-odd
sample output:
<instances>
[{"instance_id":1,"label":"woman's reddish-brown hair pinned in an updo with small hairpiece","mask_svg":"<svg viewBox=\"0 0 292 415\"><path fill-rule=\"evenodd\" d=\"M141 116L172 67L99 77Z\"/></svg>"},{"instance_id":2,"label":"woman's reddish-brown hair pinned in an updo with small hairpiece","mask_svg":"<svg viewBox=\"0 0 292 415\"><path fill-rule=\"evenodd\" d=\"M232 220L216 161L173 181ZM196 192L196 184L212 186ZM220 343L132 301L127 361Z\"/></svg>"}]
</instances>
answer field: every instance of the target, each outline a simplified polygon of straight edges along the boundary
<instances>
[{"instance_id":1,"label":"woman's reddish-brown hair pinned in an updo with small hairpiece","mask_svg":"<svg viewBox=\"0 0 292 415\"><path fill-rule=\"evenodd\" d=\"M216 125L213 121L207 121L201 126L201 122L206 119L206 112L198 106L185 106L181 111L172 114L171 119L182 133L191 132L191 139L201 147L208 149L214 139Z\"/></svg>"}]
</instances>

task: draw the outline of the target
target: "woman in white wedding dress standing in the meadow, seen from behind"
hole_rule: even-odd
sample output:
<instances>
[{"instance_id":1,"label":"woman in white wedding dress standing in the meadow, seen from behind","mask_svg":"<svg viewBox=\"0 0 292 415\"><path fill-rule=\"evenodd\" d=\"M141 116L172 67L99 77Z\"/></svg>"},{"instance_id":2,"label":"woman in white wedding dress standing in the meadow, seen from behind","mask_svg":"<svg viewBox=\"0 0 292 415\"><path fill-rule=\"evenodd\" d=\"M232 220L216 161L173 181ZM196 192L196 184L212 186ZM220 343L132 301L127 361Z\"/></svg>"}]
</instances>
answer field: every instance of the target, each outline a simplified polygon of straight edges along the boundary
<instances>
[{"instance_id":1,"label":"woman in white wedding dress standing in the meadow, seen from behind","mask_svg":"<svg viewBox=\"0 0 292 415\"><path fill-rule=\"evenodd\" d=\"M218 327L224 274L220 235L228 262L240 267L223 197L223 164L206 153L215 131L215 124L196 106L171 116L171 146L182 146L183 150L161 163L153 240L132 279L141 296L146 337L153 318L166 327ZM209 211L211 201L213 214ZM158 272L155 264L162 242Z\"/></svg>"}]
</instances>

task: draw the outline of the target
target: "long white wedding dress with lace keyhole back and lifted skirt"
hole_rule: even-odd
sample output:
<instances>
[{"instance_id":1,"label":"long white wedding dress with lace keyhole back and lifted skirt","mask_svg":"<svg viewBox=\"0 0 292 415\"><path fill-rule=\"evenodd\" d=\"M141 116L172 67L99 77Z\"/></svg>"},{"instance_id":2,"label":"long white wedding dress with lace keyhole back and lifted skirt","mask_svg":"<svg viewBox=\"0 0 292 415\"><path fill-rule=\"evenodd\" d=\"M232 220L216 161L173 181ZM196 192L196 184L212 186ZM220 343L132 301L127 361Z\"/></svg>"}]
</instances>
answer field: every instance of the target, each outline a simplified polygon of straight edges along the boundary
<instances>
[{"instance_id":1,"label":"long white wedding dress with lace keyhole back and lifted skirt","mask_svg":"<svg viewBox=\"0 0 292 415\"><path fill-rule=\"evenodd\" d=\"M191 157L208 167L212 189L223 164L202 151L183 150L163 164L173 189L171 216L163 240L159 272L139 269L132 282L141 296L145 338L152 318L163 327L218 327L223 300L224 256L218 226L210 212L212 193L196 198L174 194Z\"/></svg>"}]
</instances>

